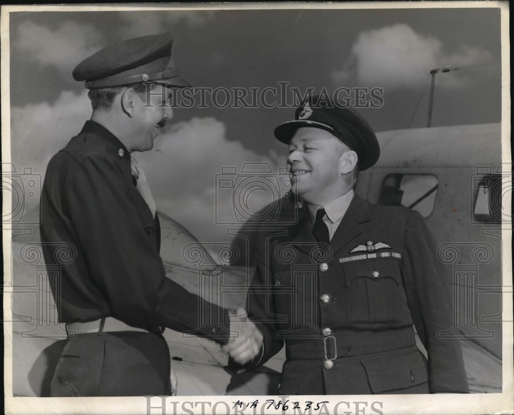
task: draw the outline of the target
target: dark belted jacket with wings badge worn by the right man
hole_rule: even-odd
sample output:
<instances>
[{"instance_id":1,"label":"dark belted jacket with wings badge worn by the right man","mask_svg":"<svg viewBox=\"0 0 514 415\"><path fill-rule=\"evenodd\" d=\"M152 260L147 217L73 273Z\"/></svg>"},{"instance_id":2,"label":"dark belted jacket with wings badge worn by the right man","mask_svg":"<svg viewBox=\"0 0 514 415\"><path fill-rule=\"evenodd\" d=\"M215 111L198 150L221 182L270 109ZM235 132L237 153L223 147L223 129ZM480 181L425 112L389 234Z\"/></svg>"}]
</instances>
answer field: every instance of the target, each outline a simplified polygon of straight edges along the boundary
<instances>
[{"instance_id":1,"label":"dark belted jacket with wings badge worn by the right man","mask_svg":"<svg viewBox=\"0 0 514 415\"><path fill-rule=\"evenodd\" d=\"M460 343L438 336L453 327L450 281L421 215L355 195L329 244L311 230L262 242L247 309L264 344L245 368L285 342L280 393L468 392Z\"/></svg>"}]
</instances>

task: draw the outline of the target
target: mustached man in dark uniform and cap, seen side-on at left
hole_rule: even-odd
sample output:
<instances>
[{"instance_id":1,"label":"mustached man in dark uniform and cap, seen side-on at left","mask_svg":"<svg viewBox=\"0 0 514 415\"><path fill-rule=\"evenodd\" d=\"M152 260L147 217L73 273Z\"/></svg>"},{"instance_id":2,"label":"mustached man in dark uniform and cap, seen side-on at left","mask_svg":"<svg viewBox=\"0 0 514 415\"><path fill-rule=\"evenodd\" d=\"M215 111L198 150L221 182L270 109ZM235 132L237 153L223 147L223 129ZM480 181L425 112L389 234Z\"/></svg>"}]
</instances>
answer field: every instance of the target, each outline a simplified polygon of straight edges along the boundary
<instances>
[{"instance_id":1,"label":"mustached man in dark uniform and cap, seen side-on at left","mask_svg":"<svg viewBox=\"0 0 514 415\"><path fill-rule=\"evenodd\" d=\"M168 279L159 256L155 202L131 153L152 149L173 117L172 88L189 85L172 45L171 33L118 42L73 72L89 89L93 115L49 162L41 197L47 267L66 259L60 276L49 272L68 332L52 396L172 394L163 327L232 348L260 336ZM229 341L228 329L240 336Z\"/></svg>"}]
</instances>

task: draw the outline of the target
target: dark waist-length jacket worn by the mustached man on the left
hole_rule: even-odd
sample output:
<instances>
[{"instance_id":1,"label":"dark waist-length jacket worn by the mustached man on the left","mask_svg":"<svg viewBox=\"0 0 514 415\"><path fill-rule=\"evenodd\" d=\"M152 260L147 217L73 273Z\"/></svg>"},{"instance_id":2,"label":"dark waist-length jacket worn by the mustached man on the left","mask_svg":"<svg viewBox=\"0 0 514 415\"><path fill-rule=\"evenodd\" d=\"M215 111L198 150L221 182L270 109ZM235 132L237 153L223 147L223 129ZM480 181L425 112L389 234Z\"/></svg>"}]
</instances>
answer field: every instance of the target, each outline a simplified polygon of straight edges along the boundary
<instances>
[{"instance_id":1,"label":"dark waist-length jacket worn by the mustached man on the left","mask_svg":"<svg viewBox=\"0 0 514 415\"><path fill-rule=\"evenodd\" d=\"M106 128L87 121L53 156L41 206L45 261L59 270L49 275L60 322L114 316L143 329L164 326L227 342L219 324L226 310L166 276L158 220L134 185L129 152ZM200 318L199 310L218 318Z\"/></svg>"}]
</instances>

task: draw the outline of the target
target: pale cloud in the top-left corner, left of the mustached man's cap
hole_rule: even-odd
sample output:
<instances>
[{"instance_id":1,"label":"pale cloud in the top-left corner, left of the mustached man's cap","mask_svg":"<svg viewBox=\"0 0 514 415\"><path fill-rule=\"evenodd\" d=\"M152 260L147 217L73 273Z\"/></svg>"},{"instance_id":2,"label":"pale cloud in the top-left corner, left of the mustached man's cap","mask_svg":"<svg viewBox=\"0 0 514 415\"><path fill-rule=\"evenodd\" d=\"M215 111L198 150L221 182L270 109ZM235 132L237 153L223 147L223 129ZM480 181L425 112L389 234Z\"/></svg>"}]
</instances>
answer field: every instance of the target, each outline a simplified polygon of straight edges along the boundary
<instances>
[{"instance_id":1,"label":"pale cloud in the top-left corner, left of the mustached man's cap","mask_svg":"<svg viewBox=\"0 0 514 415\"><path fill-rule=\"evenodd\" d=\"M71 21L62 23L56 30L27 21L17 28L13 42L17 53L67 75L103 46L103 36L93 25Z\"/></svg>"}]
</instances>

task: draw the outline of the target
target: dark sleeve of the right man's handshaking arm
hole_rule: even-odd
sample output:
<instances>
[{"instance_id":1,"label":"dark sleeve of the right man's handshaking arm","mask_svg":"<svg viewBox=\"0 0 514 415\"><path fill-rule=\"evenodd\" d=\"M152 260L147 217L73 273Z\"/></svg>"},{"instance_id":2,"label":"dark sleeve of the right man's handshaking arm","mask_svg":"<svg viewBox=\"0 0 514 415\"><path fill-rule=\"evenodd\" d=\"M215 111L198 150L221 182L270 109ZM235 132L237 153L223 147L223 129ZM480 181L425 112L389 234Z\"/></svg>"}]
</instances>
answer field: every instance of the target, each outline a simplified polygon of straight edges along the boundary
<instances>
[{"instance_id":1,"label":"dark sleeve of the right man's handshaking arm","mask_svg":"<svg viewBox=\"0 0 514 415\"><path fill-rule=\"evenodd\" d=\"M277 313L274 296L272 292L270 292L270 289L273 287L270 284L272 277L271 269L265 260L265 258L270 257L270 255L265 255L265 250L267 249L266 242L267 238L264 238L259 251L258 266L253 275L246 297L246 311L248 317L261 331L263 335L263 345L254 359L246 365L239 365L232 359L229 359L229 368L238 372L242 370L253 370L263 365L271 357L276 355L284 345L284 340L277 338L276 322L273 318L273 315Z\"/></svg>"}]
</instances>

